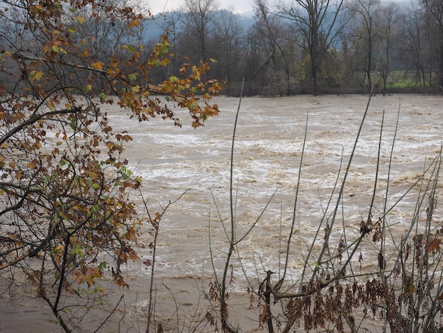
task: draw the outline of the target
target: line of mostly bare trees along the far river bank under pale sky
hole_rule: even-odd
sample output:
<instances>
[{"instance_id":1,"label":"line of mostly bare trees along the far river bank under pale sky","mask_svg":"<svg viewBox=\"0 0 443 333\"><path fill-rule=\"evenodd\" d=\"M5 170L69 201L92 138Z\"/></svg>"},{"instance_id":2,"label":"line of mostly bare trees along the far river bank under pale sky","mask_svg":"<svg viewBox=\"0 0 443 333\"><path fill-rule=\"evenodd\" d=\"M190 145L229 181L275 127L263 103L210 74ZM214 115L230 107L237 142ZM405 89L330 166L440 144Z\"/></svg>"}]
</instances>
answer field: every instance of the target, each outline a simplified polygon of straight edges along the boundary
<instances>
[{"instance_id":1,"label":"line of mostly bare trees along the far river bank under pale sky","mask_svg":"<svg viewBox=\"0 0 443 333\"><path fill-rule=\"evenodd\" d=\"M148 13L129 0L111 2ZM167 35L171 64L151 72L152 81L203 60L212 62L207 78L228 81L224 93L234 96L243 79L247 95L443 92L441 0L254 0L253 9L246 16L217 0L186 0L134 29L86 7L76 36L91 57L109 58L125 57L125 47L143 54ZM13 27L0 29L16 38Z\"/></svg>"}]
</instances>

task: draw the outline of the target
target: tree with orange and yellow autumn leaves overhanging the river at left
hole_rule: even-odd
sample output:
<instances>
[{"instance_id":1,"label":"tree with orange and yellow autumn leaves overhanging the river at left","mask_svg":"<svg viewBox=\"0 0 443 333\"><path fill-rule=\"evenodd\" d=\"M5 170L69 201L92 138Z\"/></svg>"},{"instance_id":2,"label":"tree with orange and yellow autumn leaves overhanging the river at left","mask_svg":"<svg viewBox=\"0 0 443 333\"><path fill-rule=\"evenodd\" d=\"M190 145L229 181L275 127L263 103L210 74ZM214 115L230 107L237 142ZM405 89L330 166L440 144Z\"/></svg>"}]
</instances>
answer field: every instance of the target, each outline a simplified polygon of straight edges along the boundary
<instances>
[{"instance_id":1,"label":"tree with orange and yellow autumn leaves overhanging the river at left","mask_svg":"<svg viewBox=\"0 0 443 333\"><path fill-rule=\"evenodd\" d=\"M106 293L100 278L109 271L129 287L121 266L139 258L131 193L142 180L121 156L132 138L113 132L100 105L176 125L179 106L194 128L219 112L208 100L221 86L202 81L206 63L151 81L171 45L161 36L144 49L147 19L112 1L0 8L0 273L13 281L22 271L67 332L82 320L76 309Z\"/></svg>"}]
</instances>

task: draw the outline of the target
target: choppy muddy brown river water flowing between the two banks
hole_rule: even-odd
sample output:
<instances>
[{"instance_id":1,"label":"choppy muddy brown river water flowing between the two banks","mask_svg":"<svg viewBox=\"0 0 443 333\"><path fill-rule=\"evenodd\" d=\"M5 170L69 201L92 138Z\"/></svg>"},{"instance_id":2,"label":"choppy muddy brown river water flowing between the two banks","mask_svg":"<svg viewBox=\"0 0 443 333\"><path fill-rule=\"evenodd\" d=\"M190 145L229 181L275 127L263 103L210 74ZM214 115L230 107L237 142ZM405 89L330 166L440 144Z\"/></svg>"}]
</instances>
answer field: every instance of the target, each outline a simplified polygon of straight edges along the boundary
<instances>
[{"instance_id":1,"label":"choppy muddy brown river water flowing between the two banks","mask_svg":"<svg viewBox=\"0 0 443 333\"><path fill-rule=\"evenodd\" d=\"M256 280L257 274L263 278L264 270L279 271L280 247L285 246L282 244L289 235L306 132L296 230L289 259L292 277L299 276L303 262L301 253L306 252L313 239L335 181L343 179L344 165L349 161L367 99L365 96L294 96L253 97L241 101L234 147L238 237L258 218L276 191L253 232L238 247L243 269L251 281ZM195 313L192 311L198 300L197 288L207 288L209 282L201 277L213 275L209 260L209 224L216 270L222 269L226 236L219 215L224 220L230 216L229 158L238 98L220 97L214 102L219 105L220 115L197 130L188 125L186 113L180 117L183 128L175 128L172 123L160 119L139 124L129 120L124 111L108 110L114 130L126 130L134 138L126 147L127 159L130 168L144 178L144 196L149 198L151 212L161 210L168 201L185 193L180 201L171 205L161 222L156 259L159 320L174 314L176 305L172 295L176 302L183 303L179 311L182 322L190 321ZM442 142L442 97L373 97L345 186L343 210L340 210L340 221L344 221L349 235L357 235L359 222L367 217L383 114L379 190L374 215L383 210L396 126L388 203L395 203L414 184L425 165L435 158ZM392 230L399 236L404 234L408 219L414 213L415 200L413 193L408 194L390 215ZM438 218L437 209L435 219ZM340 232L333 235L333 242L338 241L338 237ZM147 233L142 234L141 239L146 244L151 242ZM149 249L139 253L144 258L149 257ZM238 259L234 260L234 274L236 283L231 290L243 293L247 287L246 278ZM134 315L137 305L146 304L149 271L143 265L134 265L128 277L132 280L131 288L126 291L126 307L121 311ZM197 286L192 281L197 281ZM248 296L235 302L240 304L234 307L235 312L246 314L242 322L248 322L249 316L252 320L248 328L258 326L257 311L248 310ZM0 305L4 307L5 304L6 299L0 298ZM21 315L21 310L10 310L7 321L14 314ZM0 323L0 330L7 327L10 326Z\"/></svg>"}]
</instances>

